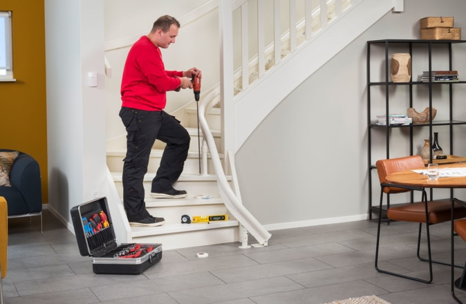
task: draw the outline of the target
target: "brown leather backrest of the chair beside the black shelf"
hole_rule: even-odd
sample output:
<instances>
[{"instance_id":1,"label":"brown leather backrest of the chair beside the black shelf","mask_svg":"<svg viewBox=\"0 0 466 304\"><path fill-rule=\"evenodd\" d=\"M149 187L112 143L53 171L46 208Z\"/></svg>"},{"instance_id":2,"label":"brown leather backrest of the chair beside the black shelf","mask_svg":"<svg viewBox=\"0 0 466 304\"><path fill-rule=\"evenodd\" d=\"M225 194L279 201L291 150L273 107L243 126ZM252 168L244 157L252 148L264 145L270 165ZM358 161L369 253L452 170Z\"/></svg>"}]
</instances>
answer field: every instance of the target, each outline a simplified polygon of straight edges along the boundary
<instances>
[{"instance_id":1,"label":"brown leather backrest of the chair beside the black shelf","mask_svg":"<svg viewBox=\"0 0 466 304\"><path fill-rule=\"evenodd\" d=\"M386 175L398 171L420 169L425 167L424 161L420 155L406 156L404 158L391 158L389 160L378 160L375 162L377 172L379 173L380 184L386 182ZM401 189L396 187L383 187L384 193L400 193L411 191L409 189Z\"/></svg>"}]
</instances>

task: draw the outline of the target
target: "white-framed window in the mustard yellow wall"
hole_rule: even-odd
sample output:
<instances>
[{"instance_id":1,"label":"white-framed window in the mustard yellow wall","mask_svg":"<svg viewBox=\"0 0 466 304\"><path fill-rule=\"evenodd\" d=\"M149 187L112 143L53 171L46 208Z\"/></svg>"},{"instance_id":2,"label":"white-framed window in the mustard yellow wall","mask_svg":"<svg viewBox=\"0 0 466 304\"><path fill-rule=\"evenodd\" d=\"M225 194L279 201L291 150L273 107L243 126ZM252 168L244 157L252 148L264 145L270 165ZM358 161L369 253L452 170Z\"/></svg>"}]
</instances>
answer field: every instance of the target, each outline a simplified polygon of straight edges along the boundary
<instances>
[{"instance_id":1,"label":"white-framed window in the mustard yellow wall","mask_svg":"<svg viewBox=\"0 0 466 304\"><path fill-rule=\"evenodd\" d=\"M13 80L11 12L0 12L0 81Z\"/></svg>"}]
</instances>

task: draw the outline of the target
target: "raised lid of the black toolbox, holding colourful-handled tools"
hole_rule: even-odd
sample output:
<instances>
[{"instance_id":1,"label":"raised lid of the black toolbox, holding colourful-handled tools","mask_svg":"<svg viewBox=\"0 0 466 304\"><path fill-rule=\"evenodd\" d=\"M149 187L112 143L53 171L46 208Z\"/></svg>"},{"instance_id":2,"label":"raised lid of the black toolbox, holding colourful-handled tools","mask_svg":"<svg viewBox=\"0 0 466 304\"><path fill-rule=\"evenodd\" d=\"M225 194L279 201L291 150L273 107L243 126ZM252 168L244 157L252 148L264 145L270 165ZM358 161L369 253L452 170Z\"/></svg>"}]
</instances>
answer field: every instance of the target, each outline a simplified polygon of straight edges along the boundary
<instances>
[{"instance_id":1,"label":"raised lid of the black toolbox, holding colourful-handled tools","mask_svg":"<svg viewBox=\"0 0 466 304\"><path fill-rule=\"evenodd\" d=\"M118 246L106 197L84 202L70 212L82 256L103 256Z\"/></svg>"}]
</instances>

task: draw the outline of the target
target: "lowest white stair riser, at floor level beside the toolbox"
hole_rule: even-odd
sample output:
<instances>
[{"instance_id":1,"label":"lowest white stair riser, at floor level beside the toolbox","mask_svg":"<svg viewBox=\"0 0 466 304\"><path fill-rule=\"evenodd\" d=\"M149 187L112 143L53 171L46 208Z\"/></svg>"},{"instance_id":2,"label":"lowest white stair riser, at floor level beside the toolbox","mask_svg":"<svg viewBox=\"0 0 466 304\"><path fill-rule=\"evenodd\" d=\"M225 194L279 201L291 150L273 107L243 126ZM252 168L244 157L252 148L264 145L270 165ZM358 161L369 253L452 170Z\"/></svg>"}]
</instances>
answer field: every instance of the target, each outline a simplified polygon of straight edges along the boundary
<instances>
[{"instance_id":1,"label":"lowest white stair riser, at floor level beside the toolbox","mask_svg":"<svg viewBox=\"0 0 466 304\"><path fill-rule=\"evenodd\" d=\"M198 224L191 224L198 225ZM227 227L201 231L189 231L179 234L163 234L158 236L144 236L133 238L129 243L158 243L162 250L197 247L222 243L237 242L239 238L238 227Z\"/></svg>"}]
</instances>

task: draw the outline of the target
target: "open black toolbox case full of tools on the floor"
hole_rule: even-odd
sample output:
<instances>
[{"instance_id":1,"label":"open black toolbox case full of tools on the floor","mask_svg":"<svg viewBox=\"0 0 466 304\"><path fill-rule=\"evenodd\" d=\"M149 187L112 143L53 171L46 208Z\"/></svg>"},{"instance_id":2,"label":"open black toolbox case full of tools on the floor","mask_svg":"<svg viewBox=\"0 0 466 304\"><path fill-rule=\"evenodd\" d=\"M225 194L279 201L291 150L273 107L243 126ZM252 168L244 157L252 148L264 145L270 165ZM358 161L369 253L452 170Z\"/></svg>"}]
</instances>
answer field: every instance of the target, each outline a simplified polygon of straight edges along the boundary
<instances>
[{"instance_id":1,"label":"open black toolbox case full of tools on the floor","mask_svg":"<svg viewBox=\"0 0 466 304\"><path fill-rule=\"evenodd\" d=\"M80 254L93 256L95 274L142 274L162 258L161 244L117 244L105 197L73 207L71 219Z\"/></svg>"}]
</instances>

